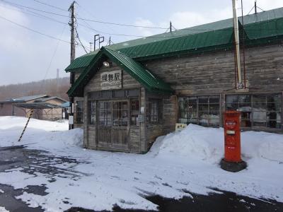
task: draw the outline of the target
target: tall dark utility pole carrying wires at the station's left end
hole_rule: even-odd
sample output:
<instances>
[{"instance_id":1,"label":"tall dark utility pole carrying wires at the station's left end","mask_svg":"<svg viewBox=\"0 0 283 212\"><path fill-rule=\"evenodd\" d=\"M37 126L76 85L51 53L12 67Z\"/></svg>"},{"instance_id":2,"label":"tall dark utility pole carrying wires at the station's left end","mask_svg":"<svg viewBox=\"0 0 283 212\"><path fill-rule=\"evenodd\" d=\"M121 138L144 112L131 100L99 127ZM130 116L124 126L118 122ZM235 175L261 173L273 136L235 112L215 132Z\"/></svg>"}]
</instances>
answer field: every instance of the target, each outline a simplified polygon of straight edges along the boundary
<instances>
[{"instance_id":1,"label":"tall dark utility pole carrying wires at the station's left end","mask_svg":"<svg viewBox=\"0 0 283 212\"><path fill-rule=\"evenodd\" d=\"M73 1L68 11L71 11L71 63L76 58L76 46L75 46L75 4ZM70 72L70 84L73 86L75 81L74 73ZM69 107L69 129L74 129L74 97L69 97L70 107Z\"/></svg>"}]
</instances>

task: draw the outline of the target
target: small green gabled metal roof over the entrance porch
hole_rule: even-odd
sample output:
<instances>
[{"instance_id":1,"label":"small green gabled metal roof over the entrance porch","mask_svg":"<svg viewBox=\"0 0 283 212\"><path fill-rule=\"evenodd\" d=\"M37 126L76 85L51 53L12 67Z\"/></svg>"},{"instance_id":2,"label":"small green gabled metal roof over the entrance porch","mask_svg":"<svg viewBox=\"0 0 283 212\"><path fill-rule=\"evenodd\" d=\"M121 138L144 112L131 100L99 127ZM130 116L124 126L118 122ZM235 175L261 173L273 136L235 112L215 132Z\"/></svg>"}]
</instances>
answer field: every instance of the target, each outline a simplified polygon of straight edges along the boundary
<instances>
[{"instance_id":1,"label":"small green gabled metal roof over the entrance porch","mask_svg":"<svg viewBox=\"0 0 283 212\"><path fill-rule=\"evenodd\" d=\"M96 54L93 61L91 61L91 65L88 66L86 71L81 73L74 85L68 90L68 95L83 96L84 86L86 86L88 81L91 80L106 58L111 59L123 70L127 71L127 73L141 83L146 90L154 93L173 93L173 89L167 83L154 76L148 69L145 69L144 66L141 66L141 64L137 61L134 61L122 52L102 47Z\"/></svg>"}]
</instances>

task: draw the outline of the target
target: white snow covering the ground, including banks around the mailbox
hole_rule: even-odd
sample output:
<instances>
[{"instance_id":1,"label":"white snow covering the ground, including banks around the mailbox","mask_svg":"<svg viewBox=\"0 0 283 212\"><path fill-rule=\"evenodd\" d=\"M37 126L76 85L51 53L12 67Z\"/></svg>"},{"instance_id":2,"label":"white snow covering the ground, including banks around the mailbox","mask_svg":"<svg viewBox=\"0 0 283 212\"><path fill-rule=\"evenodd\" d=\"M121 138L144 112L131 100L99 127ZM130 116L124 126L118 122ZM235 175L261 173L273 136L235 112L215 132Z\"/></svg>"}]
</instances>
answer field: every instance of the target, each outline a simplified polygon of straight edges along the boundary
<instances>
[{"instance_id":1,"label":"white snow covering the ground, including banks around the mailbox","mask_svg":"<svg viewBox=\"0 0 283 212\"><path fill-rule=\"evenodd\" d=\"M248 168L233 173L219 167L224 156L223 129L190 124L183 131L158 138L149 153L136 155L83 149L83 131L67 131L67 122L31 119L18 143L25 122L23 117L0 117L0 146L25 144L30 149L83 162L64 166L80 173L77 177L58 175L55 181L48 181L47 174L30 175L21 168L1 172L0 184L15 189L45 184L46 196L24 192L17 197L30 207L42 206L52 212L71 206L111 210L114 204L156 209L144 196L159 194L178 199L190 196L189 192L209 194L215 192L213 188L283 202L283 135L243 132L242 155Z\"/></svg>"}]
</instances>

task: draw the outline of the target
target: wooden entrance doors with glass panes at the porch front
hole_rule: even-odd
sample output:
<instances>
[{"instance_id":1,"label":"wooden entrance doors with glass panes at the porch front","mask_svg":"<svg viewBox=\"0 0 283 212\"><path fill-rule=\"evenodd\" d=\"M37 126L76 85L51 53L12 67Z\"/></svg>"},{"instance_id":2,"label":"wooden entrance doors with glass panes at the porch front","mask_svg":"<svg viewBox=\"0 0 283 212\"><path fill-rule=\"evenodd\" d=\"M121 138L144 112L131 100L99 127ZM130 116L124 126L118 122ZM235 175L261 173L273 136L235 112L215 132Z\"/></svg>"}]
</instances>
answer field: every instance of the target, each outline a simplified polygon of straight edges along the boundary
<instances>
[{"instance_id":1,"label":"wooden entrance doors with glass panes at the porch front","mask_svg":"<svg viewBox=\"0 0 283 212\"><path fill-rule=\"evenodd\" d=\"M98 146L129 148L129 101L98 102Z\"/></svg>"}]
</instances>

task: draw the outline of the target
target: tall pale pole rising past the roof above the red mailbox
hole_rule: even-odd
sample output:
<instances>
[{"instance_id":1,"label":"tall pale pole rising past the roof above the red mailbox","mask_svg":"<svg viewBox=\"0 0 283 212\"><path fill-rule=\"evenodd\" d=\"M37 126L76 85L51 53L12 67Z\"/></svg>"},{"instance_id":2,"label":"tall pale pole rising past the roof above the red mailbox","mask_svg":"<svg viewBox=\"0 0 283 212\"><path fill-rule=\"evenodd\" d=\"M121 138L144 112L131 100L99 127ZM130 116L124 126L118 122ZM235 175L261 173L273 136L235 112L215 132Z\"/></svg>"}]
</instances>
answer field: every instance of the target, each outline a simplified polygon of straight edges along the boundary
<instances>
[{"instance_id":1,"label":"tall pale pole rising past the roof above the red mailbox","mask_svg":"<svg viewBox=\"0 0 283 212\"><path fill-rule=\"evenodd\" d=\"M238 16L237 16L237 4L236 0L232 0L233 4L233 25L234 25L234 35L235 35L235 47L236 47L236 66L238 71L238 82L236 88L242 89L243 82L241 76L241 60L240 60L240 43L239 43L239 35L238 35Z\"/></svg>"}]
</instances>

